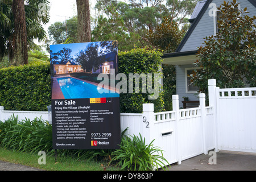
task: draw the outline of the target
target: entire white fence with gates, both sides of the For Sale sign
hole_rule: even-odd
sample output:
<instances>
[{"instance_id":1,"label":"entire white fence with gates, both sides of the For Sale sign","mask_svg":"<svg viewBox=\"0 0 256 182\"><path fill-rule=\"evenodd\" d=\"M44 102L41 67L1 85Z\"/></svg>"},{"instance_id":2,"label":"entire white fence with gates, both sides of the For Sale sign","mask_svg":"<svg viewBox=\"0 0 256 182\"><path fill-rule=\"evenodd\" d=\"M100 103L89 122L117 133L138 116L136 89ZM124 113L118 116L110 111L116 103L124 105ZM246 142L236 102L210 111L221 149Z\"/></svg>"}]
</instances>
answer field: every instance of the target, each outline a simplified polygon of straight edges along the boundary
<instances>
[{"instance_id":1,"label":"entire white fence with gates, both sides of the For Sale sign","mask_svg":"<svg viewBox=\"0 0 256 182\"><path fill-rule=\"evenodd\" d=\"M142 114L121 113L121 130L127 135L139 135L149 144L164 151L168 164L209 150L229 150L256 153L256 88L220 89L216 80L208 80L209 106L205 94L199 94L199 107L179 109L179 97L172 96L172 111L154 113L153 104L143 104ZM0 121L11 115L18 119L51 121L51 113L35 111L5 111L0 107Z\"/></svg>"}]
</instances>

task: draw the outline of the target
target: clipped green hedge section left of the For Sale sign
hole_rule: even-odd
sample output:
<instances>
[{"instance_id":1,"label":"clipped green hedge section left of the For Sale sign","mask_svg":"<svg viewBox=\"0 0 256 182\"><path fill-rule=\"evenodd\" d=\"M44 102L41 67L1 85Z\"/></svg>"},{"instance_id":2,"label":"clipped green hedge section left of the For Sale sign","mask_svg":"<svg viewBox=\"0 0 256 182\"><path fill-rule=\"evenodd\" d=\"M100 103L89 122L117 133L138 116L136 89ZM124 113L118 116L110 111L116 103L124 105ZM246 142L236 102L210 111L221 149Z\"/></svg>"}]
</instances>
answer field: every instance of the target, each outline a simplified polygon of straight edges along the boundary
<instances>
[{"instance_id":1,"label":"clipped green hedge section left of the For Sale sign","mask_svg":"<svg viewBox=\"0 0 256 182\"><path fill-rule=\"evenodd\" d=\"M51 105L49 63L0 69L0 106L5 110L46 111Z\"/></svg>"}]
</instances>

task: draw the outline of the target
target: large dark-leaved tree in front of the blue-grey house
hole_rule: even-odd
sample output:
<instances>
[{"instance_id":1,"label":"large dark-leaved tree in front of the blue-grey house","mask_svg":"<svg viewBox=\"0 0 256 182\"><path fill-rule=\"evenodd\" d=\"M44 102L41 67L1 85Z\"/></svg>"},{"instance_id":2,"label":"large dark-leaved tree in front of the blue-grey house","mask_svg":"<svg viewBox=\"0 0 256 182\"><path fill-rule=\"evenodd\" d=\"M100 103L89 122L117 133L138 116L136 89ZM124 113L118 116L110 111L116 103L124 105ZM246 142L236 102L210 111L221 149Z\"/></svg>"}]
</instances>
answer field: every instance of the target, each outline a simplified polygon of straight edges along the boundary
<instances>
[{"instance_id":1,"label":"large dark-leaved tree in front of the blue-grey house","mask_svg":"<svg viewBox=\"0 0 256 182\"><path fill-rule=\"evenodd\" d=\"M256 86L256 16L246 15L247 8L238 10L238 6L234 0L218 7L218 32L206 37L199 48L195 65L201 69L191 74L199 92L208 93L207 80L212 78L220 88Z\"/></svg>"}]
</instances>

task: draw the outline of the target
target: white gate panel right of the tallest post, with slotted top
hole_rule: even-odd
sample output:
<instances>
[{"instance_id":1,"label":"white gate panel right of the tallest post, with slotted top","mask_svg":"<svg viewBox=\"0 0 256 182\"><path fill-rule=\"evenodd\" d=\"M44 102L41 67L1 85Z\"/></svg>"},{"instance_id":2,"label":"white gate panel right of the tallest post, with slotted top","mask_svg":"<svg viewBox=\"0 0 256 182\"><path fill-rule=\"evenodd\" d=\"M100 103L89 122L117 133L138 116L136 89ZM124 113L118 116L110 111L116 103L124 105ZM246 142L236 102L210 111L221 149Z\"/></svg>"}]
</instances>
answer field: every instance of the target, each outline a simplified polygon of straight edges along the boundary
<instances>
[{"instance_id":1,"label":"white gate panel right of the tallest post, with slotted top","mask_svg":"<svg viewBox=\"0 0 256 182\"><path fill-rule=\"evenodd\" d=\"M218 148L256 152L256 88L216 88Z\"/></svg>"}]
</instances>

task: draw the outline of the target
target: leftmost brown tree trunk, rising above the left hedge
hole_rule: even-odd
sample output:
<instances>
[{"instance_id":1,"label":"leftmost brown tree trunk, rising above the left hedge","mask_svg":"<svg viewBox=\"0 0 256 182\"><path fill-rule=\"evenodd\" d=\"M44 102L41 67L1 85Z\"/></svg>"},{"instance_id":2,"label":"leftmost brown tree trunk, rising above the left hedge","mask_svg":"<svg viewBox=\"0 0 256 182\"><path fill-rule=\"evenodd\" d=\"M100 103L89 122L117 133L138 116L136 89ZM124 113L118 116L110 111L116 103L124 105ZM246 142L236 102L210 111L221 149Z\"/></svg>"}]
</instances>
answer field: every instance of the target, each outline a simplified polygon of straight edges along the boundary
<instances>
[{"instance_id":1,"label":"leftmost brown tree trunk, rising above the left hedge","mask_svg":"<svg viewBox=\"0 0 256 182\"><path fill-rule=\"evenodd\" d=\"M14 57L12 64L28 64L27 55L27 28L25 20L24 0L13 0L14 16Z\"/></svg>"}]
</instances>

